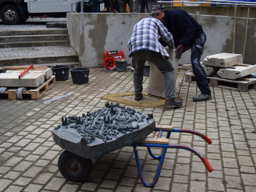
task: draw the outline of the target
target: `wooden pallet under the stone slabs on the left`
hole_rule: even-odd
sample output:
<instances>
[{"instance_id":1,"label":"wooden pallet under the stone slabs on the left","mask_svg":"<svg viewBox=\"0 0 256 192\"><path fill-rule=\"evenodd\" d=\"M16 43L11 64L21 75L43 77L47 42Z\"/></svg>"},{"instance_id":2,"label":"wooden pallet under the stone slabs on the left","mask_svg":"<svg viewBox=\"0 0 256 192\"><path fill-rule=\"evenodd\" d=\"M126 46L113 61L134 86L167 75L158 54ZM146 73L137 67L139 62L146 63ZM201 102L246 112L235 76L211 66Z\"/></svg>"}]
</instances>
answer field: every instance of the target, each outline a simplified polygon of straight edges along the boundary
<instances>
[{"instance_id":1,"label":"wooden pallet under the stone slabs on the left","mask_svg":"<svg viewBox=\"0 0 256 192\"><path fill-rule=\"evenodd\" d=\"M30 96L32 100L38 100L47 90L49 90L53 84L55 84L55 76L51 76L49 79L45 80L37 88L24 88L22 91L22 96ZM17 89L18 88L7 88L4 93L0 95L8 95L9 100L17 100Z\"/></svg>"}]
</instances>

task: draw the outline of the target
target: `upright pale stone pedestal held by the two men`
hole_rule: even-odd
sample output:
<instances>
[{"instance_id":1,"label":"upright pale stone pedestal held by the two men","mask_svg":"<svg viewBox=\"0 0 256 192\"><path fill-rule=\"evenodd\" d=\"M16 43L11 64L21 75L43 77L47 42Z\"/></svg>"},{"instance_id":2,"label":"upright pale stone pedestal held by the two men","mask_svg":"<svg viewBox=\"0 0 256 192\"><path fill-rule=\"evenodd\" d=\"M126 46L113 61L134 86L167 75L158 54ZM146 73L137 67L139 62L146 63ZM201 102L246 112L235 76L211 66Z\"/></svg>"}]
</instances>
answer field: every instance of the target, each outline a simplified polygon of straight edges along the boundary
<instances>
[{"instance_id":1,"label":"upright pale stone pedestal held by the two men","mask_svg":"<svg viewBox=\"0 0 256 192\"><path fill-rule=\"evenodd\" d=\"M175 77L175 84L176 78L178 75L178 65L179 59L175 57L175 49L166 49L168 52L170 59L174 64L174 77ZM149 82L148 82L148 94L165 98L165 82L164 82L164 75L159 71L159 69L153 64L150 64L150 71L149 71Z\"/></svg>"}]
</instances>

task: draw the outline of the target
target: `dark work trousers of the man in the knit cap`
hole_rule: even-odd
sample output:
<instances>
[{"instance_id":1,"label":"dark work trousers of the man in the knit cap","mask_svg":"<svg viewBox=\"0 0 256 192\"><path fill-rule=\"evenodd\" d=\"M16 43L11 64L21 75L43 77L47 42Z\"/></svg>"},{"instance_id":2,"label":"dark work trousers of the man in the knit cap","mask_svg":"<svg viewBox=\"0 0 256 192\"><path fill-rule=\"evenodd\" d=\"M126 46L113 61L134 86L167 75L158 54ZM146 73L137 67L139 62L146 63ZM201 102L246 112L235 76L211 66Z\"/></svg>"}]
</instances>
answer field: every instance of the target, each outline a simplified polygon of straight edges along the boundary
<instances>
[{"instance_id":1,"label":"dark work trousers of the man in the knit cap","mask_svg":"<svg viewBox=\"0 0 256 192\"><path fill-rule=\"evenodd\" d=\"M191 50L191 64L193 68L193 73L196 76L197 86L201 93L210 93L210 87L207 82L207 77L203 66L200 64L200 58L203 54L203 48L206 41L206 35L201 34L201 36L194 40L192 50Z\"/></svg>"}]
</instances>

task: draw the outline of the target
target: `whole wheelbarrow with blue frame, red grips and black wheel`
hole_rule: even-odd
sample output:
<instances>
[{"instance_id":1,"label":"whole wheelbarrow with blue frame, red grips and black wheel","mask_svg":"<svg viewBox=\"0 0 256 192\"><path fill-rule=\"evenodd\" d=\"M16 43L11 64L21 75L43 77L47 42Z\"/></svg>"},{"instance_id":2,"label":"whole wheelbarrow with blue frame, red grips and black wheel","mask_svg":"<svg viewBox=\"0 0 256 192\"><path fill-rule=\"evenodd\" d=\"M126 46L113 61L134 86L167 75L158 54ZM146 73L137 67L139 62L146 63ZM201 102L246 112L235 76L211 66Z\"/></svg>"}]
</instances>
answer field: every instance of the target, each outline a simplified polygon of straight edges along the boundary
<instances>
[{"instance_id":1,"label":"whole wheelbarrow with blue frame, red grips and black wheel","mask_svg":"<svg viewBox=\"0 0 256 192\"><path fill-rule=\"evenodd\" d=\"M173 126L167 126L167 125L156 125L154 131L158 132L158 136L156 138L146 137L146 139L143 139L139 142L129 145L129 146L133 147L139 177L140 177L141 183L143 185L145 185L146 187L153 187L158 182L158 179L159 179L160 173L161 173L161 169L162 169L162 165L164 163L166 151L168 148L185 149L187 151L190 151L190 152L196 154L201 159L203 164L205 165L207 171L209 171L209 172L213 171L212 166L207 161L207 159L204 157L204 155L202 155L196 149L189 147L189 146L185 146L185 145L169 143L169 138L170 138L171 133L172 132L180 132L180 133L190 133L193 135L197 135L197 136L201 137L202 139L204 139L208 144L211 144L212 141L206 135L201 134L194 130L173 128ZM164 132L167 132L166 138L162 138L162 134ZM145 180L143 179L137 147L147 147L148 152L152 156L152 158L154 158L156 160L160 160L156 176L154 178L154 181L151 184L146 183ZM151 147L162 148L162 154L160 156L155 156L151 151ZM89 175L92 171L92 160L88 159L88 158L83 158L79 155L73 154L73 153L65 150L59 156L58 168L59 168L60 173L66 179L73 181L73 182L84 182L87 180L87 178L89 177Z\"/></svg>"}]
</instances>

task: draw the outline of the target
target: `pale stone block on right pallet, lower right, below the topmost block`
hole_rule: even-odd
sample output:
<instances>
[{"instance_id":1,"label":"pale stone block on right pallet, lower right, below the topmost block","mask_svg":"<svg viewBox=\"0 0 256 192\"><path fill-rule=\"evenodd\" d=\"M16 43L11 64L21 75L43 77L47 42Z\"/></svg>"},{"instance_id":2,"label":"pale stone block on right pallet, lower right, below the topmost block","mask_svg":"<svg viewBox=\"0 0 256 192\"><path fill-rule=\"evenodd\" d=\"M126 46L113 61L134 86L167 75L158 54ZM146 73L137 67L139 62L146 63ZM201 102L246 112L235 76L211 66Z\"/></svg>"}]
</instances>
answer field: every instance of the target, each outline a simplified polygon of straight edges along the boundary
<instances>
[{"instance_id":1,"label":"pale stone block on right pallet, lower right, below the topmost block","mask_svg":"<svg viewBox=\"0 0 256 192\"><path fill-rule=\"evenodd\" d=\"M236 65L232 68L219 69L217 74L225 79L238 79L255 72L255 65Z\"/></svg>"}]
</instances>

